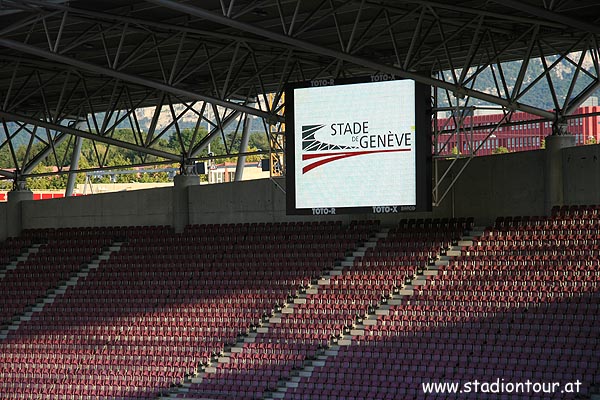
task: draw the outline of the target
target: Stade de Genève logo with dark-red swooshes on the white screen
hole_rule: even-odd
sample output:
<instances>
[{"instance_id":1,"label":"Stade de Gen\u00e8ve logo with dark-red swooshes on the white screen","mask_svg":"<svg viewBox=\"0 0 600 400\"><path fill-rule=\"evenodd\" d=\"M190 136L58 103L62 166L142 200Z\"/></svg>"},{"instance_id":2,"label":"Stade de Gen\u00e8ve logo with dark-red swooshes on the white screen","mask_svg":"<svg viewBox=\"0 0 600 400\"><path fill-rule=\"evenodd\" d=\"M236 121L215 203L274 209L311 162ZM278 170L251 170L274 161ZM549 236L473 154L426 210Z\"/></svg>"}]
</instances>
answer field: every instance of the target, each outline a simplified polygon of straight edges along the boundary
<instances>
[{"instance_id":1,"label":"Stade de Gen\u00e8ve logo with dark-red swooshes on the white screen","mask_svg":"<svg viewBox=\"0 0 600 400\"><path fill-rule=\"evenodd\" d=\"M368 122L347 122L330 125L331 137L349 136L356 146L340 143L326 143L318 140L315 134L326 125L302 125L302 161L308 162L302 168L305 174L317 167L348 157L375 153L411 151L411 133L369 135Z\"/></svg>"}]
</instances>

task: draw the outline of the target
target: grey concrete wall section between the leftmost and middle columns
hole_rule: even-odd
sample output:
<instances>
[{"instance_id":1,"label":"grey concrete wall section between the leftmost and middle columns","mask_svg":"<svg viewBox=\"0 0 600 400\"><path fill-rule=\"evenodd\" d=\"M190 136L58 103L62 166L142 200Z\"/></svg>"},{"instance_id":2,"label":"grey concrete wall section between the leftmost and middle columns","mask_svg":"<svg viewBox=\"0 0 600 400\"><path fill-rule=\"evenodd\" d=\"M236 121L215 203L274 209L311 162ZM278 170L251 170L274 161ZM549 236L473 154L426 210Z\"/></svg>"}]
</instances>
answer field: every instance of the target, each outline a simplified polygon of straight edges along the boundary
<instances>
[{"instance_id":1,"label":"grey concrete wall section between the leftmost and middle columns","mask_svg":"<svg viewBox=\"0 0 600 400\"><path fill-rule=\"evenodd\" d=\"M171 225L171 188L25 201L23 229Z\"/></svg>"}]
</instances>

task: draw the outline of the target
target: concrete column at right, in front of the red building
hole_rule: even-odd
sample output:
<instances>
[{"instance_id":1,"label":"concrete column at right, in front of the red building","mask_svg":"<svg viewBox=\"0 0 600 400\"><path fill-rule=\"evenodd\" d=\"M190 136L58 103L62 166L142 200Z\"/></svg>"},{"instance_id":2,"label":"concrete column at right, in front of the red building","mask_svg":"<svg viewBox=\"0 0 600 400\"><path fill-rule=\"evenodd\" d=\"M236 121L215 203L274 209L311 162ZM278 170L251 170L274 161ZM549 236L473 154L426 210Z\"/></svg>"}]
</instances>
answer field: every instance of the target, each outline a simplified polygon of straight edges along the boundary
<instances>
[{"instance_id":1,"label":"concrete column at right, in front of the red building","mask_svg":"<svg viewBox=\"0 0 600 400\"><path fill-rule=\"evenodd\" d=\"M551 135L546 137L545 204L546 215L552 207L564 205L562 149L575 146L573 135Z\"/></svg>"}]
</instances>

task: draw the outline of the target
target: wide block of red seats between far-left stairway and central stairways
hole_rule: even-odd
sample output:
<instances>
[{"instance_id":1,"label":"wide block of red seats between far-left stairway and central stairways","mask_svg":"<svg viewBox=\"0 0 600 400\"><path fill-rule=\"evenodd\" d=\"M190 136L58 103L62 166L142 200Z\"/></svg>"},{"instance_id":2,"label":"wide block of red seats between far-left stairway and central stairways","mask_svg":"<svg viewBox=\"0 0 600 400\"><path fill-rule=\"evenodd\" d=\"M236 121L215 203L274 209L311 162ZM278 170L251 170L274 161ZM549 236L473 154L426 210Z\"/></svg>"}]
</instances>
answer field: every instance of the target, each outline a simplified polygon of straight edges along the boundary
<instances>
[{"instance_id":1,"label":"wide block of red seats between far-left stairway and central stairways","mask_svg":"<svg viewBox=\"0 0 600 400\"><path fill-rule=\"evenodd\" d=\"M124 242L120 250L80 276L76 285L0 343L6 361L0 393L17 393L9 398L75 394L145 398L148 393L166 391L218 357L240 335L255 332L275 308L378 229L373 222L290 225L293 228L286 224L198 226L188 227L184 234L164 227L114 229L112 233L119 237L113 241ZM277 238L279 229L298 238L257 245L257 236ZM224 245L234 230L236 245ZM109 232L98 234L104 237ZM44 234L52 246L57 243L54 239L94 243L92 234L71 230L27 233L31 237ZM220 244L198 245L196 238L206 235L216 235L220 242L214 243ZM340 240L322 240L325 235ZM180 257L181 252L188 254ZM59 257L63 255L68 251L58 252ZM306 336L313 328L292 324L289 329L291 336L300 330ZM303 342L310 350L292 346L284 354L261 347L250 357L233 357L231 365L247 369L268 362L271 370L286 371L300 367L307 351L329 339L325 327L316 331L321 339ZM82 379L88 372L71 368L94 371L89 373L97 382L95 392ZM131 378L118 379L119 375ZM155 379L158 376L161 379ZM43 382L48 384L16 390L24 377L38 382L46 379ZM54 386L49 384L52 379L58 379ZM277 384L279 375L272 380L268 387Z\"/></svg>"}]
</instances>

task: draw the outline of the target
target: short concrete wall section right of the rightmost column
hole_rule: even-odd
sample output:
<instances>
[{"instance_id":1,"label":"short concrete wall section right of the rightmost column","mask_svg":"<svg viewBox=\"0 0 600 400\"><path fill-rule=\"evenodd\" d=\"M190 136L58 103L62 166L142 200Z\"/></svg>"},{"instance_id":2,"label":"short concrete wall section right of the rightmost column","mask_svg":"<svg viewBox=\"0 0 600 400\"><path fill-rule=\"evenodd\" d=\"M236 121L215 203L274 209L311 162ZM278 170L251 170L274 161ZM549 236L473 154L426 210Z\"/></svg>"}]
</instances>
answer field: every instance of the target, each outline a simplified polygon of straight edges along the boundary
<instances>
[{"instance_id":1,"label":"short concrete wall section right of the rightmost column","mask_svg":"<svg viewBox=\"0 0 600 400\"><path fill-rule=\"evenodd\" d=\"M565 204L600 204L600 145L563 150Z\"/></svg>"}]
</instances>

